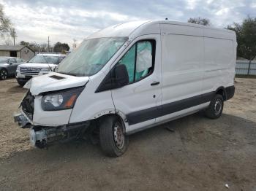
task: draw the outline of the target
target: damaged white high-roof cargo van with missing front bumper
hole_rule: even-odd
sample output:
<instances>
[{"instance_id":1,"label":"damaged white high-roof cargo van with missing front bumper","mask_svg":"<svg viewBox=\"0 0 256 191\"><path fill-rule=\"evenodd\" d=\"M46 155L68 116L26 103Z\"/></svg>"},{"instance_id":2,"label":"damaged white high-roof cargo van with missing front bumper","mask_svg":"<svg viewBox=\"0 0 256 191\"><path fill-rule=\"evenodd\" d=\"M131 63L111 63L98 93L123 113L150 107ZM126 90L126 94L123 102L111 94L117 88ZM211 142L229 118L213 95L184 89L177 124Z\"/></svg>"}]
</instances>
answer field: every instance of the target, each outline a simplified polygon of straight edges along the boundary
<instances>
[{"instance_id":1,"label":"damaged white high-roof cargo van with missing front bumper","mask_svg":"<svg viewBox=\"0 0 256 191\"><path fill-rule=\"evenodd\" d=\"M168 20L105 28L25 85L15 121L39 148L98 133L106 155L122 155L138 130L200 110L218 118L235 90L236 45L233 31Z\"/></svg>"}]
</instances>

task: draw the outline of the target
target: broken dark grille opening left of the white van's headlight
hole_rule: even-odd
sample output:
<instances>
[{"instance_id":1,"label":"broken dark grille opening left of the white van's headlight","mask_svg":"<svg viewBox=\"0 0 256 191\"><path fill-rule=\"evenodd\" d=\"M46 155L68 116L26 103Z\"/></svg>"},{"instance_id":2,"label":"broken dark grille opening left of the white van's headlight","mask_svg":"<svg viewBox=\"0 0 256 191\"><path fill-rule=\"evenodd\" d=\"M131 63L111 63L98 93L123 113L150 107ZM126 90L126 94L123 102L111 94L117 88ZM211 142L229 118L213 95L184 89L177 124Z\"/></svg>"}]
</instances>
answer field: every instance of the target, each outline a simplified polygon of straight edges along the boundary
<instances>
[{"instance_id":1,"label":"broken dark grille opening left of the white van's headlight","mask_svg":"<svg viewBox=\"0 0 256 191\"><path fill-rule=\"evenodd\" d=\"M30 120L33 120L33 114L34 114L34 96L31 95L30 92L28 92L23 98L23 101L21 102L21 108L23 112L26 113L26 115L30 118Z\"/></svg>"}]
</instances>

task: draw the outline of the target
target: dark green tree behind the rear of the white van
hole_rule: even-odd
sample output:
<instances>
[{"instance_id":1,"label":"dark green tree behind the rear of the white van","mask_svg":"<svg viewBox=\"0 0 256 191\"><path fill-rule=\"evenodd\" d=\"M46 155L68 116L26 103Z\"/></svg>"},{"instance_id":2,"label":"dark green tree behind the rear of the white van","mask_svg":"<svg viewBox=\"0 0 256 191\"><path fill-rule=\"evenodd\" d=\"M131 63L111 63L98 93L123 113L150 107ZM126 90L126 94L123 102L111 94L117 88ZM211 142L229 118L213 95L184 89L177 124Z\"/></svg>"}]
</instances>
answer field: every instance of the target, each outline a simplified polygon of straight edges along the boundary
<instances>
[{"instance_id":1,"label":"dark green tree behind the rear of the white van","mask_svg":"<svg viewBox=\"0 0 256 191\"><path fill-rule=\"evenodd\" d=\"M247 17L243 23L234 23L227 29L236 32L238 57L252 61L256 57L256 17Z\"/></svg>"}]
</instances>

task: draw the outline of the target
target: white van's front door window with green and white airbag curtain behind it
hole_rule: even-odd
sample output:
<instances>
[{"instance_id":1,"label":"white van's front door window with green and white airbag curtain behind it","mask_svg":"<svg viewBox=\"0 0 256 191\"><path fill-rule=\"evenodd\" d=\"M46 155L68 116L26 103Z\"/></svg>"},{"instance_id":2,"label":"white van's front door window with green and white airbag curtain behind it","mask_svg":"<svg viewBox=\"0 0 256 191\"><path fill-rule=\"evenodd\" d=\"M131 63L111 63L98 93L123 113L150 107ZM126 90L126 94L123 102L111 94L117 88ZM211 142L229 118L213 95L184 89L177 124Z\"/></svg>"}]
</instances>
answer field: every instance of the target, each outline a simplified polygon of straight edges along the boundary
<instances>
[{"instance_id":1,"label":"white van's front door window with green and white airbag curtain behind it","mask_svg":"<svg viewBox=\"0 0 256 191\"><path fill-rule=\"evenodd\" d=\"M154 40L136 42L118 61L127 67L129 82L136 82L154 70Z\"/></svg>"}]
</instances>

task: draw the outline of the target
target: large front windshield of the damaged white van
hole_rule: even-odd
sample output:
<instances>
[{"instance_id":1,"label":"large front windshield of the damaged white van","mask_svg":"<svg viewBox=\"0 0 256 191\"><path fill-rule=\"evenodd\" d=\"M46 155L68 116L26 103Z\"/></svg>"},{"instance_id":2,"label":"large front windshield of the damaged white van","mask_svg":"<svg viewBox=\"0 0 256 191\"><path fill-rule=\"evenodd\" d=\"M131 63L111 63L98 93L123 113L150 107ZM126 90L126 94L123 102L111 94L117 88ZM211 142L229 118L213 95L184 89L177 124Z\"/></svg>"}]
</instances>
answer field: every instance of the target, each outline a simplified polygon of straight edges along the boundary
<instances>
[{"instance_id":1,"label":"large front windshield of the damaged white van","mask_svg":"<svg viewBox=\"0 0 256 191\"><path fill-rule=\"evenodd\" d=\"M96 74L127 41L127 37L87 39L59 65L58 72L75 76Z\"/></svg>"}]
</instances>

